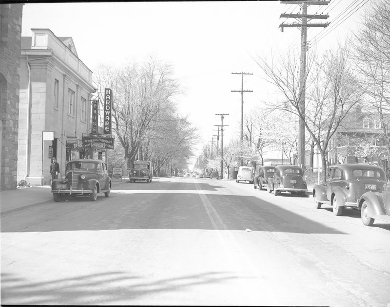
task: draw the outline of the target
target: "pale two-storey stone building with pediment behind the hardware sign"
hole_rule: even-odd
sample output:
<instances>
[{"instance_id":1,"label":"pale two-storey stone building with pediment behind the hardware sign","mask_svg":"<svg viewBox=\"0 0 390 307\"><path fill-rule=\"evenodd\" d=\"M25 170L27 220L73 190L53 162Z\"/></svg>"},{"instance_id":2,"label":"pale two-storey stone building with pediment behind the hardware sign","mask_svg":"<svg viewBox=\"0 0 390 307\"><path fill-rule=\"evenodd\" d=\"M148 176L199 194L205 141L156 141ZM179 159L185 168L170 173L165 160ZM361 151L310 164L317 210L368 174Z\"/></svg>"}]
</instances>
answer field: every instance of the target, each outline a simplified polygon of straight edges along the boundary
<instances>
[{"instance_id":1,"label":"pale two-storey stone building with pediment behind the hardware sign","mask_svg":"<svg viewBox=\"0 0 390 307\"><path fill-rule=\"evenodd\" d=\"M83 158L82 136L91 131L92 72L78 58L72 37L31 29L21 38L18 180L50 183L50 163L60 173Z\"/></svg>"}]
</instances>

